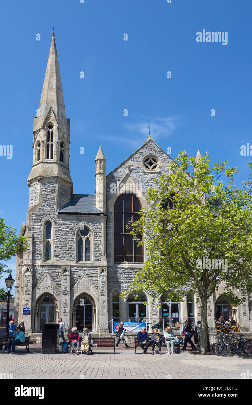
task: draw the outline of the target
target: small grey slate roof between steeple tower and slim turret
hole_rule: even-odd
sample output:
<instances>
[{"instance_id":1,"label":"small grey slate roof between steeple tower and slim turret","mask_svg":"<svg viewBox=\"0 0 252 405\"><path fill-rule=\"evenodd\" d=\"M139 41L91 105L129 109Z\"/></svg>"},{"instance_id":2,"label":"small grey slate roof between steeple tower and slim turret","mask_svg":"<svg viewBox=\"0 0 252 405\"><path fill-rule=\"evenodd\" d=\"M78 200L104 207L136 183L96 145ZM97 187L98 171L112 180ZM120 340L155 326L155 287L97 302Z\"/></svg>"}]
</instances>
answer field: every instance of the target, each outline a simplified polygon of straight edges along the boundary
<instances>
[{"instance_id":1,"label":"small grey slate roof between steeple tower and slim turret","mask_svg":"<svg viewBox=\"0 0 252 405\"><path fill-rule=\"evenodd\" d=\"M95 207L95 194L72 194L70 200L57 210L59 213L100 214Z\"/></svg>"}]
</instances>

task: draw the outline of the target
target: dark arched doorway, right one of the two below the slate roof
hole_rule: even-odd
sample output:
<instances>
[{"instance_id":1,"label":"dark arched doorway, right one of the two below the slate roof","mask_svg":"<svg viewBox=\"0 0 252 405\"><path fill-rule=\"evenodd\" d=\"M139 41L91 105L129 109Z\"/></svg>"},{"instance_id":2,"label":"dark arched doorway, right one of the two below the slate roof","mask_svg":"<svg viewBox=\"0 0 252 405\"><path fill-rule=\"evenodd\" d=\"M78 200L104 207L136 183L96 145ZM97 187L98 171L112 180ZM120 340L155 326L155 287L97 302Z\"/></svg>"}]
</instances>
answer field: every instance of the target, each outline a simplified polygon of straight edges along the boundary
<instances>
[{"instance_id":1,"label":"dark arched doorway, right one of the two below the slate roof","mask_svg":"<svg viewBox=\"0 0 252 405\"><path fill-rule=\"evenodd\" d=\"M78 332L82 332L83 328L88 328L93 331L93 304L83 296L76 303L76 328Z\"/></svg>"}]
</instances>

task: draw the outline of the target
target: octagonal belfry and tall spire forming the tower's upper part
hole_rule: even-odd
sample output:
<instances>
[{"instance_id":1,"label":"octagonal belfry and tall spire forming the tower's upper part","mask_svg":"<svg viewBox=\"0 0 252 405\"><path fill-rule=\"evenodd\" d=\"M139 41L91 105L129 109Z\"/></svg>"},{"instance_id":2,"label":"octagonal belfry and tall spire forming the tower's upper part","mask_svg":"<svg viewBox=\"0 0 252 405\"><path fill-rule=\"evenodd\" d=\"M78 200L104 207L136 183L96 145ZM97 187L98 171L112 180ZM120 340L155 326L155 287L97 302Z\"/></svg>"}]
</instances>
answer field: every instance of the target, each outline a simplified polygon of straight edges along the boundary
<instances>
[{"instance_id":1,"label":"octagonal belfry and tall spire forming the tower's upper part","mask_svg":"<svg viewBox=\"0 0 252 405\"><path fill-rule=\"evenodd\" d=\"M29 207L40 196L41 182L56 183L57 210L70 200L73 186L69 172L70 119L66 118L54 31L32 132L33 162L27 180Z\"/></svg>"}]
</instances>

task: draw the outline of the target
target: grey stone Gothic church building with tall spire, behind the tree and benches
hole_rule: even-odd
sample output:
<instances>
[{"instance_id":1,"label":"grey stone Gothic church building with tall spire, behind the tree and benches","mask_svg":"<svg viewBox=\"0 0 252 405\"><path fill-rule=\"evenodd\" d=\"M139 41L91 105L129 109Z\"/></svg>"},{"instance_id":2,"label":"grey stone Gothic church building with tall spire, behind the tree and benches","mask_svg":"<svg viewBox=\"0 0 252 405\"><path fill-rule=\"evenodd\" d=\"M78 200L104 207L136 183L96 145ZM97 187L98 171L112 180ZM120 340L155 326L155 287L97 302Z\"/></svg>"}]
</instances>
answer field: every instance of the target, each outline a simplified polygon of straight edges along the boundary
<instances>
[{"instance_id":1,"label":"grey stone Gothic church building with tall spire, behind the tree and benches","mask_svg":"<svg viewBox=\"0 0 252 405\"><path fill-rule=\"evenodd\" d=\"M95 195L73 194L69 170L70 119L66 118L59 62L53 32L38 114L33 125L33 161L27 180L29 205L21 235L29 249L17 255L15 319L25 319L28 333L42 331L46 322L111 331L112 317L171 316L200 319L195 294L184 302L167 302L160 309L145 306L148 294L138 300L120 294L144 266L146 250L137 247L126 224L146 204L146 190L153 179L166 172L172 159L150 135L111 173L106 175L106 158L99 148L94 157ZM167 286L169 288L169 286ZM23 308L30 315L23 315ZM208 316L233 314L243 328L251 328L250 300L232 308L220 286L210 299ZM123 319L122 319L123 320ZM212 326L212 320L210 325ZM243 329L244 330L244 329Z\"/></svg>"}]
</instances>

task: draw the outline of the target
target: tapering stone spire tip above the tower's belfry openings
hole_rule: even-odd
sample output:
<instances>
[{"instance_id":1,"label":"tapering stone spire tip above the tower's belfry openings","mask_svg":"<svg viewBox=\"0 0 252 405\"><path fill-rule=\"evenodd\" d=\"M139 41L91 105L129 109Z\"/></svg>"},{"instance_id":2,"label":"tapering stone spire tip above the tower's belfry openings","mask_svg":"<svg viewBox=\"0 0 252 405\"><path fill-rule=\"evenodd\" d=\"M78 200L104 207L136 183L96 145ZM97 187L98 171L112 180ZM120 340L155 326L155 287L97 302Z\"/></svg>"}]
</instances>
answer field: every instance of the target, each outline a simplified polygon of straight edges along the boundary
<instances>
[{"instance_id":1,"label":"tapering stone spire tip above the tower's belfry openings","mask_svg":"<svg viewBox=\"0 0 252 405\"><path fill-rule=\"evenodd\" d=\"M47 70L38 107L38 115L34 119L34 132L44 124L50 107L53 110L53 115L55 115L59 128L64 132L69 131L54 35L55 33L53 30Z\"/></svg>"}]
</instances>

